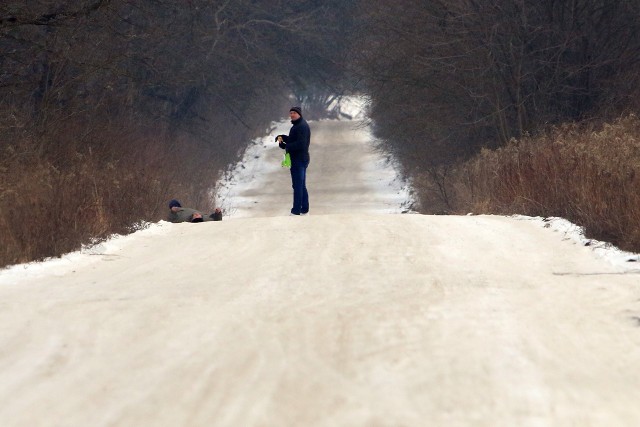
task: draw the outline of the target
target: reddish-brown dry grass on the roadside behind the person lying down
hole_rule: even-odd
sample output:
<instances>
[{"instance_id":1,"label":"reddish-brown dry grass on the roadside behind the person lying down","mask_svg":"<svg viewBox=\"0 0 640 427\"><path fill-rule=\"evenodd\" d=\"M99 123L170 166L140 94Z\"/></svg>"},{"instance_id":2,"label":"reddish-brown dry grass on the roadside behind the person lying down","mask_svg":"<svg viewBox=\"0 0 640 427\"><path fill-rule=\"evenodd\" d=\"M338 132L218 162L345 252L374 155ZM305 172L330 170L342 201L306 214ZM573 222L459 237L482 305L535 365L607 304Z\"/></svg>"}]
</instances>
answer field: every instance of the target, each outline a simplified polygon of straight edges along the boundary
<instances>
[{"instance_id":1,"label":"reddish-brown dry grass on the roadside behind the person lying down","mask_svg":"<svg viewBox=\"0 0 640 427\"><path fill-rule=\"evenodd\" d=\"M172 197L212 205L207 190L220 165L197 143L139 123L86 129L66 122L38 137L4 129L0 267L59 256L163 218Z\"/></svg>"}]
</instances>

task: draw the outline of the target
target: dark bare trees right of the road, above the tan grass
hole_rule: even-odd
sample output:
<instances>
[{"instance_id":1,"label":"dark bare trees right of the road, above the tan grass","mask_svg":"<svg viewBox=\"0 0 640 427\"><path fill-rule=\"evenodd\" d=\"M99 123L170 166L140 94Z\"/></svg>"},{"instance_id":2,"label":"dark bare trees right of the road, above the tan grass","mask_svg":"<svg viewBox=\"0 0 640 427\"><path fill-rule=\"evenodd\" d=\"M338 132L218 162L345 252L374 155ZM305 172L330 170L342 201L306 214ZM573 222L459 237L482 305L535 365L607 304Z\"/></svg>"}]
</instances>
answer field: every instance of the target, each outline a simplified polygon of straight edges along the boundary
<instances>
[{"instance_id":1,"label":"dark bare trees right of the road, above the tan grass","mask_svg":"<svg viewBox=\"0 0 640 427\"><path fill-rule=\"evenodd\" d=\"M640 105L637 0L369 0L358 71L407 170Z\"/></svg>"}]
</instances>

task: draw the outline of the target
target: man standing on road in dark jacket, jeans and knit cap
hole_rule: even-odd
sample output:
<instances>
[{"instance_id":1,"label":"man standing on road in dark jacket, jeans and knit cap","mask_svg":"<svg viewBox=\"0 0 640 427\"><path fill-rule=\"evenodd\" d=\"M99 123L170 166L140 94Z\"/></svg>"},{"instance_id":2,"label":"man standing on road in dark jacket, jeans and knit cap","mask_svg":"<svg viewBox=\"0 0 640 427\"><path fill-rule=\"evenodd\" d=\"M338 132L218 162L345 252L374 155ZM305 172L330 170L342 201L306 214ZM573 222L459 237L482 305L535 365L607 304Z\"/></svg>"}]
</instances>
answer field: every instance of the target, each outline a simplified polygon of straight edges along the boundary
<instances>
[{"instance_id":1,"label":"man standing on road in dark jacket, jeans and knit cap","mask_svg":"<svg viewBox=\"0 0 640 427\"><path fill-rule=\"evenodd\" d=\"M289 117L293 126L289 135L278 135L276 141L291 157L291 185L293 187L292 215L305 215L309 212L309 193L307 192L307 167L309 166L309 144L311 130L302 117L300 107L291 107Z\"/></svg>"}]
</instances>

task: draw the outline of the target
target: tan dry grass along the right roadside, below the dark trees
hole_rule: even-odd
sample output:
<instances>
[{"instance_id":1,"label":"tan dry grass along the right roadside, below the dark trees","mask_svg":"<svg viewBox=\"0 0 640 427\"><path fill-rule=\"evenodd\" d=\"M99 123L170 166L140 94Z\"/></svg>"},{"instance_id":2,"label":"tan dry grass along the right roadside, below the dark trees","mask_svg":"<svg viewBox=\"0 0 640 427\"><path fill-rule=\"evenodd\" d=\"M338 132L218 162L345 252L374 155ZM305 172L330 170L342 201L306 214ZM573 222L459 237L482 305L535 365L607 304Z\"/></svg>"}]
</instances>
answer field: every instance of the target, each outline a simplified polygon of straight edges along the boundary
<instances>
[{"instance_id":1,"label":"tan dry grass along the right roadside, below the dark trees","mask_svg":"<svg viewBox=\"0 0 640 427\"><path fill-rule=\"evenodd\" d=\"M485 150L449 184L459 212L560 216L640 251L640 120L566 125ZM455 191L454 191L455 190Z\"/></svg>"}]
</instances>

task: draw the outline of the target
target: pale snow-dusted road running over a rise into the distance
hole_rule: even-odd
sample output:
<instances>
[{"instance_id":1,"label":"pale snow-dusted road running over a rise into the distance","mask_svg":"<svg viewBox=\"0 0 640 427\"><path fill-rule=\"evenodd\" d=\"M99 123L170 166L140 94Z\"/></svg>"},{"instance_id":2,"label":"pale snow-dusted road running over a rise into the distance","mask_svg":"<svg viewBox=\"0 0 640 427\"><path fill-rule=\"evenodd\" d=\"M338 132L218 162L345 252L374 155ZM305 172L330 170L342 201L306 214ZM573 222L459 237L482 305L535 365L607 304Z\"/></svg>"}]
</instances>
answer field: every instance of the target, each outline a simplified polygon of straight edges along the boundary
<instances>
[{"instance_id":1,"label":"pale snow-dusted road running over a rise into the distance","mask_svg":"<svg viewBox=\"0 0 640 427\"><path fill-rule=\"evenodd\" d=\"M223 222L0 272L0 425L640 425L637 271L535 221L384 213L366 132L312 130L310 216L257 144Z\"/></svg>"}]
</instances>

